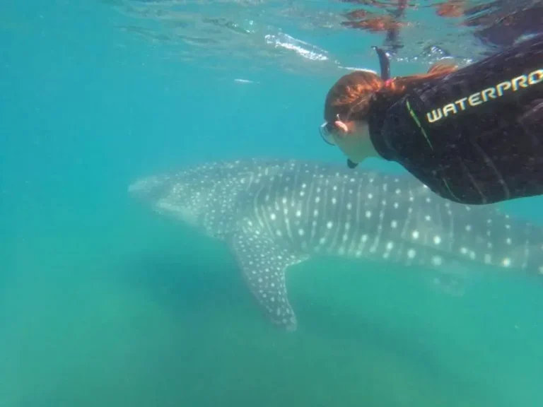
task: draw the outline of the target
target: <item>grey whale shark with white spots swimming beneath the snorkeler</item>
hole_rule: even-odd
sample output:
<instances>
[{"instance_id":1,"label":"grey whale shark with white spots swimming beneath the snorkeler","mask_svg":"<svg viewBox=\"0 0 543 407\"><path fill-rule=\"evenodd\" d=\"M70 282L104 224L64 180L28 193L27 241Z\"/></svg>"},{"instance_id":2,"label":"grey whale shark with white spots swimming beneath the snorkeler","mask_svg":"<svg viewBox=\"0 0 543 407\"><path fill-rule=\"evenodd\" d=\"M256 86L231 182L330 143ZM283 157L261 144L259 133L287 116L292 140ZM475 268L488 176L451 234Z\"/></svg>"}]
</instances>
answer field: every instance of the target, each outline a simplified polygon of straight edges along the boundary
<instances>
[{"instance_id":1,"label":"grey whale shark with white spots swimming beneath the snorkeler","mask_svg":"<svg viewBox=\"0 0 543 407\"><path fill-rule=\"evenodd\" d=\"M543 229L440 198L409 174L303 160L217 161L148 175L129 194L223 240L271 322L298 326L286 270L315 256L543 274Z\"/></svg>"}]
</instances>

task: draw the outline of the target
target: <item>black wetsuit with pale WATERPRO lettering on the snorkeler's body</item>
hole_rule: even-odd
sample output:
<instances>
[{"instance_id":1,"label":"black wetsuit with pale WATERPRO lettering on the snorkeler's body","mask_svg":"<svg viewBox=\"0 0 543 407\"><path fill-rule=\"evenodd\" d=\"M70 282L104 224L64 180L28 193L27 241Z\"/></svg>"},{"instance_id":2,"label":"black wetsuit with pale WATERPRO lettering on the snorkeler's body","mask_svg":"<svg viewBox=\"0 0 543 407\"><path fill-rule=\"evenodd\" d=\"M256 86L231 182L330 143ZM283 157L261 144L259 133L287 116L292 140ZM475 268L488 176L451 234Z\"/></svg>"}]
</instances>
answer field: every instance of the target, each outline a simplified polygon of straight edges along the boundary
<instances>
[{"instance_id":1,"label":"black wetsuit with pale WATERPRO lettering on the snorkeler's body","mask_svg":"<svg viewBox=\"0 0 543 407\"><path fill-rule=\"evenodd\" d=\"M375 138L441 196L467 204L543 194L543 35L412 88Z\"/></svg>"}]
</instances>

